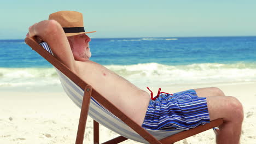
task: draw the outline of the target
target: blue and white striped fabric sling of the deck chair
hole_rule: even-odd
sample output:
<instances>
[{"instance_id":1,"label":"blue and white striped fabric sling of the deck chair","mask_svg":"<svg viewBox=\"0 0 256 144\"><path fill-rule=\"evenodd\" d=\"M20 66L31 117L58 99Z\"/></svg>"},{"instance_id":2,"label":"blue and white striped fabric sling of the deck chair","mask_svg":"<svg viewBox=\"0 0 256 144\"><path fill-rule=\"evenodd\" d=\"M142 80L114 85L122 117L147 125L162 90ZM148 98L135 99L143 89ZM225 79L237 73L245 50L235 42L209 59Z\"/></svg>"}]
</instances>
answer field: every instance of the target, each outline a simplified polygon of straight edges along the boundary
<instances>
[{"instance_id":1,"label":"blue and white striped fabric sling of the deck chair","mask_svg":"<svg viewBox=\"0 0 256 144\"><path fill-rule=\"evenodd\" d=\"M49 49L49 46L46 43L41 43L45 50L52 53ZM52 53L53 54L53 53ZM59 75L61 85L64 91L67 93L68 97L77 105L78 107L82 106L84 91L82 88L78 87L73 81L71 81L66 75L62 74L61 71L56 69L57 74ZM89 116L95 121L103 125L104 127L118 133L128 139L148 143L143 137L138 135L136 131L131 129L126 125L121 119L114 116L107 109L104 109L101 104L99 104L95 99L91 98L90 108L88 112ZM150 134L156 137L156 139L164 139L167 136L180 133L183 130L147 130Z\"/></svg>"}]
</instances>

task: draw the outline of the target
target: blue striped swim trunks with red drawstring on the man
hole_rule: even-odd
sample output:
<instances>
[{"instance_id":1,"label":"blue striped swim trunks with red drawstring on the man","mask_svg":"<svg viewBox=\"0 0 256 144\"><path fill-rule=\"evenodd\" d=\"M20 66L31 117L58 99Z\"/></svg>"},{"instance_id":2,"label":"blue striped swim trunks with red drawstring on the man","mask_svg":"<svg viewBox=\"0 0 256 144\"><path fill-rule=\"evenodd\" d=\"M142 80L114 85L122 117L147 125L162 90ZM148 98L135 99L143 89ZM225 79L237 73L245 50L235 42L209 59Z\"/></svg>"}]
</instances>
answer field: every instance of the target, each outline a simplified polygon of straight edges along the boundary
<instances>
[{"instance_id":1,"label":"blue striped swim trunks with red drawstring on the man","mask_svg":"<svg viewBox=\"0 0 256 144\"><path fill-rule=\"evenodd\" d=\"M142 127L151 130L188 130L210 123L206 98L194 89L171 94L161 93L149 101Z\"/></svg>"}]
</instances>

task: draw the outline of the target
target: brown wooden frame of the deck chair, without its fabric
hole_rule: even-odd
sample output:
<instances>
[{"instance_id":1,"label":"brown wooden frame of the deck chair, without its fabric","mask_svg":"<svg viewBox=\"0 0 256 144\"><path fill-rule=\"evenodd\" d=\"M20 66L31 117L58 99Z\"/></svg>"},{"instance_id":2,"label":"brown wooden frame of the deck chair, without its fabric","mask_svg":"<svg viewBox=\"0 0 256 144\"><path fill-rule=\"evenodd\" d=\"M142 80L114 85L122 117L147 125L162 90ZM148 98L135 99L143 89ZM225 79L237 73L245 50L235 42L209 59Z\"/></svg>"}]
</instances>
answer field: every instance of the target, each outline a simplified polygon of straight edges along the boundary
<instances>
[{"instance_id":1,"label":"brown wooden frame of the deck chair, without its fabric","mask_svg":"<svg viewBox=\"0 0 256 144\"><path fill-rule=\"evenodd\" d=\"M85 125L86 125L86 119L88 117L88 110L90 105L90 98L94 98L98 101L102 106L106 107L110 112L113 113L113 115L117 116L121 121L126 123L130 128L132 128L136 133L141 135L145 140L147 140L149 143L154 144L163 144L163 143L174 143L179 140L183 140L187 137L193 136L195 134L199 134L202 131L218 127L218 125L223 123L223 119L219 118L214 121L211 121L211 123L200 125L199 127L189 129L182 131L181 133L174 134L168 137L165 137L164 139L158 140L153 135L148 133L147 130L143 129L141 125L138 125L132 119L128 116L126 116L123 112L121 112L117 107L115 107L110 101L108 101L106 98L104 98L100 93L95 91L88 83L80 79L79 76L75 75L68 67L66 67L65 64L63 64L59 59L51 55L49 52L44 50L42 46L40 46L36 40L32 38L26 38L25 42L27 45L29 45L34 51L39 53L43 58L45 58L48 62L50 62L52 65L54 65L55 68L59 69L63 74L65 74L69 79L71 79L74 83L76 83L80 88L84 89L84 98L83 98L83 104L81 107L80 112L80 119L78 124L78 131L77 131L77 139L75 141L75 144L82 144L84 140L84 133L85 133ZM107 142L103 142L102 144L115 144L120 143L122 141L127 140L126 137L119 136L112 140L109 140ZM94 121L94 144L99 143L99 130L98 130L98 123Z\"/></svg>"}]
</instances>

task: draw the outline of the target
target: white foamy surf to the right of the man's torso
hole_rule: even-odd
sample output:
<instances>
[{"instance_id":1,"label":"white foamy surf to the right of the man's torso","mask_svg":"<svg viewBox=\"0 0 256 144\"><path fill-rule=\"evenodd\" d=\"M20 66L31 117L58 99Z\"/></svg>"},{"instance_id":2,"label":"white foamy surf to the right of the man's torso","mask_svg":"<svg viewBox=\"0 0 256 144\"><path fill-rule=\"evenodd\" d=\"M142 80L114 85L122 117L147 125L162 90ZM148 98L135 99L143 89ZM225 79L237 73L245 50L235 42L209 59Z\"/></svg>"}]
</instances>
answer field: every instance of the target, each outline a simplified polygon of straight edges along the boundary
<instances>
[{"instance_id":1,"label":"white foamy surf to the right of the man's torso","mask_svg":"<svg viewBox=\"0 0 256 144\"><path fill-rule=\"evenodd\" d=\"M138 85L172 85L182 83L252 82L256 80L256 64L202 63L164 65L108 65L107 68Z\"/></svg>"}]
</instances>

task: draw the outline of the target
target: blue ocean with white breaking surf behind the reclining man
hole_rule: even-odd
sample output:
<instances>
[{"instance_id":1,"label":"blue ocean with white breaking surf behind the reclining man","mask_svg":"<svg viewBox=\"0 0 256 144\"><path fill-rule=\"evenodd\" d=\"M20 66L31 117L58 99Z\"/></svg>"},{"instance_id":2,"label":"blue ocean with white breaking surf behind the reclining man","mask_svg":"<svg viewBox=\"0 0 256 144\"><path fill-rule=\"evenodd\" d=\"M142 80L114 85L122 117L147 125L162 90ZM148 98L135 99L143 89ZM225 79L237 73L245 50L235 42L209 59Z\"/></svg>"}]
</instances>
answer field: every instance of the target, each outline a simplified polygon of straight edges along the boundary
<instances>
[{"instance_id":1,"label":"blue ocean with white breaking surf behind the reclining man","mask_svg":"<svg viewBox=\"0 0 256 144\"><path fill-rule=\"evenodd\" d=\"M92 38L91 61L139 88L256 81L256 37ZM0 91L61 91L24 40L0 40Z\"/></svg>"}]
</instances>

